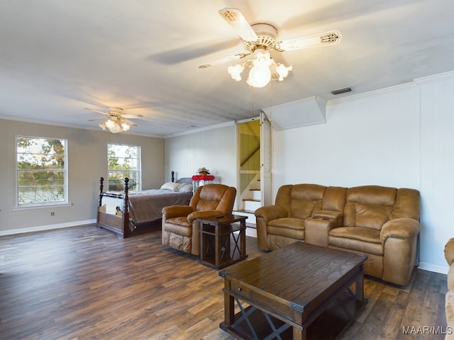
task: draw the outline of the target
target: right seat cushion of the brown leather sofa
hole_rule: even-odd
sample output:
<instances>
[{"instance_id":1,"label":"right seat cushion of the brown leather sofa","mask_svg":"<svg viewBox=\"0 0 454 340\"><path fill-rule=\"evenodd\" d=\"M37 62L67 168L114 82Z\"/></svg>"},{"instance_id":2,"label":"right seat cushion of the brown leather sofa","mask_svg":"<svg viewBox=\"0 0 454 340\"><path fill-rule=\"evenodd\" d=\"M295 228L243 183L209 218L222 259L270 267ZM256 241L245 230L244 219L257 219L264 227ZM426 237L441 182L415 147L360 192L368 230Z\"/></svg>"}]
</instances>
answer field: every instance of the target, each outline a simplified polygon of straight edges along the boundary
<instances>
[{"instance_id":1,"label":"right seat cushion of the brown leather sofa","mask_svg":"<svg viewBox=\"0 0 454 340\"><path fill-rule=\"evenodd\" d=\"M338 227L329 232L328 243L337 248L383 256L380 231L362 227Z\"/></svg>"}]
</instances>

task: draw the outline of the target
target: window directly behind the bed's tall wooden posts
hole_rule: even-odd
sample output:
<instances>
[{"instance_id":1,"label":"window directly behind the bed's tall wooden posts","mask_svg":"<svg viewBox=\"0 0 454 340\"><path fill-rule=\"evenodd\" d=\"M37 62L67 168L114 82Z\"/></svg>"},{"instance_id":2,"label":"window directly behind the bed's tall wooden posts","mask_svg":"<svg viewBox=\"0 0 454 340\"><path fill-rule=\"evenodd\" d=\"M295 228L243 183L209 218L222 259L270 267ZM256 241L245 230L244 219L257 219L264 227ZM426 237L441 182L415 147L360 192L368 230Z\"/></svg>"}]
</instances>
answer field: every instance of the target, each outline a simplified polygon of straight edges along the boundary
<instances>
[{"instance_id":1,"label":"window directly behind the bed's tall wooden posts","mask_svg":"<svg viewBox=\"0 0 454 340\"><path fill-rule=\"evenodd\" d=\"M129 179L129 190L139 191L140 147L136 145L107 145L109 162L109 191L123 191L124 179Z\"/></svg>"}]
</instances>

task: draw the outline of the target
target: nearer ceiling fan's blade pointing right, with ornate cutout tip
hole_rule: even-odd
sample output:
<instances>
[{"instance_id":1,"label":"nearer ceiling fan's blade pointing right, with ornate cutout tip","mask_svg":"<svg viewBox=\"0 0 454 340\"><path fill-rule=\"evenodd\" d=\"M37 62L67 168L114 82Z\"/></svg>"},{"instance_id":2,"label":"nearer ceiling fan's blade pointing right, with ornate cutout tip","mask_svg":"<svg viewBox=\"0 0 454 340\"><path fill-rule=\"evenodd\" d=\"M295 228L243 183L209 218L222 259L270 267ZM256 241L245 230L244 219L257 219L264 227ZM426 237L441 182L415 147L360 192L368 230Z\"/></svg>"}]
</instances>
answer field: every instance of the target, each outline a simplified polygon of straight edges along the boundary
<instances>
[{"instance_id":1,"label":"nearer ceiling fan's blade pointing right, with ornate cutout tip","mask_svg":"<svg viewBox=\"0 0 454 340\"><path fill-rule=\"evenodd\" d=\"M277 51L300 50L301 48L336 45L341 41L342 35L338 30L325 33L306 35L304 37L279 41L275 45Z\"/></svg>"}]
</instances>

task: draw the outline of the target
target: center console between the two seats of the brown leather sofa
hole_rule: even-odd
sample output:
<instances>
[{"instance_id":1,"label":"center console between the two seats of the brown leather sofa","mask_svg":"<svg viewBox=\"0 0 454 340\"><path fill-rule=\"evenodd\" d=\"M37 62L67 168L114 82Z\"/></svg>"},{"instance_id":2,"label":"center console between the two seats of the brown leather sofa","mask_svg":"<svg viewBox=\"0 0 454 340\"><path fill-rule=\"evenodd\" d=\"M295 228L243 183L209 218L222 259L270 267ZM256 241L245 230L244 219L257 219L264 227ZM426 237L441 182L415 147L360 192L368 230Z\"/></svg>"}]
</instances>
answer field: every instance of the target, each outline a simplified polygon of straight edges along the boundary
<instances>
[{"instance_id":1,"label":"center console between the two seats of the brown leather sofa","mask_svg":"<svg viewBox=\"0 0 454 340\"><path fill-rule=\"evenodd\" d=\"M328 246L331 229L342 227L343 212L338 210L320 210L306 219L304 241L316 246Z\"/></svg>"}]
</instances>

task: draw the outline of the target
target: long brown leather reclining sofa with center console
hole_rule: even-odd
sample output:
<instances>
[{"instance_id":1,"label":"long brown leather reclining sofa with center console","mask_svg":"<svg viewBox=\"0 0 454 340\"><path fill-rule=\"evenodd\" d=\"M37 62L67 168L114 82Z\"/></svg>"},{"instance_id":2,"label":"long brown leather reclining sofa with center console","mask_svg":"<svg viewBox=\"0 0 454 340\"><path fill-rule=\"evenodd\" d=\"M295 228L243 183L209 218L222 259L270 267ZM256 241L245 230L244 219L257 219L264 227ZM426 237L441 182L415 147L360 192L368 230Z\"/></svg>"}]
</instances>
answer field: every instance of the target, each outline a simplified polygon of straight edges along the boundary
<instances>
[{"instance_id":1,"label":"long brown leather reclining sofa with center console","mask_svg":"<svg viewBox=\"0 0 454 340\"><path fill-rule=\"evenodd\" d=\"M406 285L416 263L420 201L409 188L282 186L275 205L255 210L258 247L300 240L365 254L367 275Z\"/></svg>"}]
</instances>

